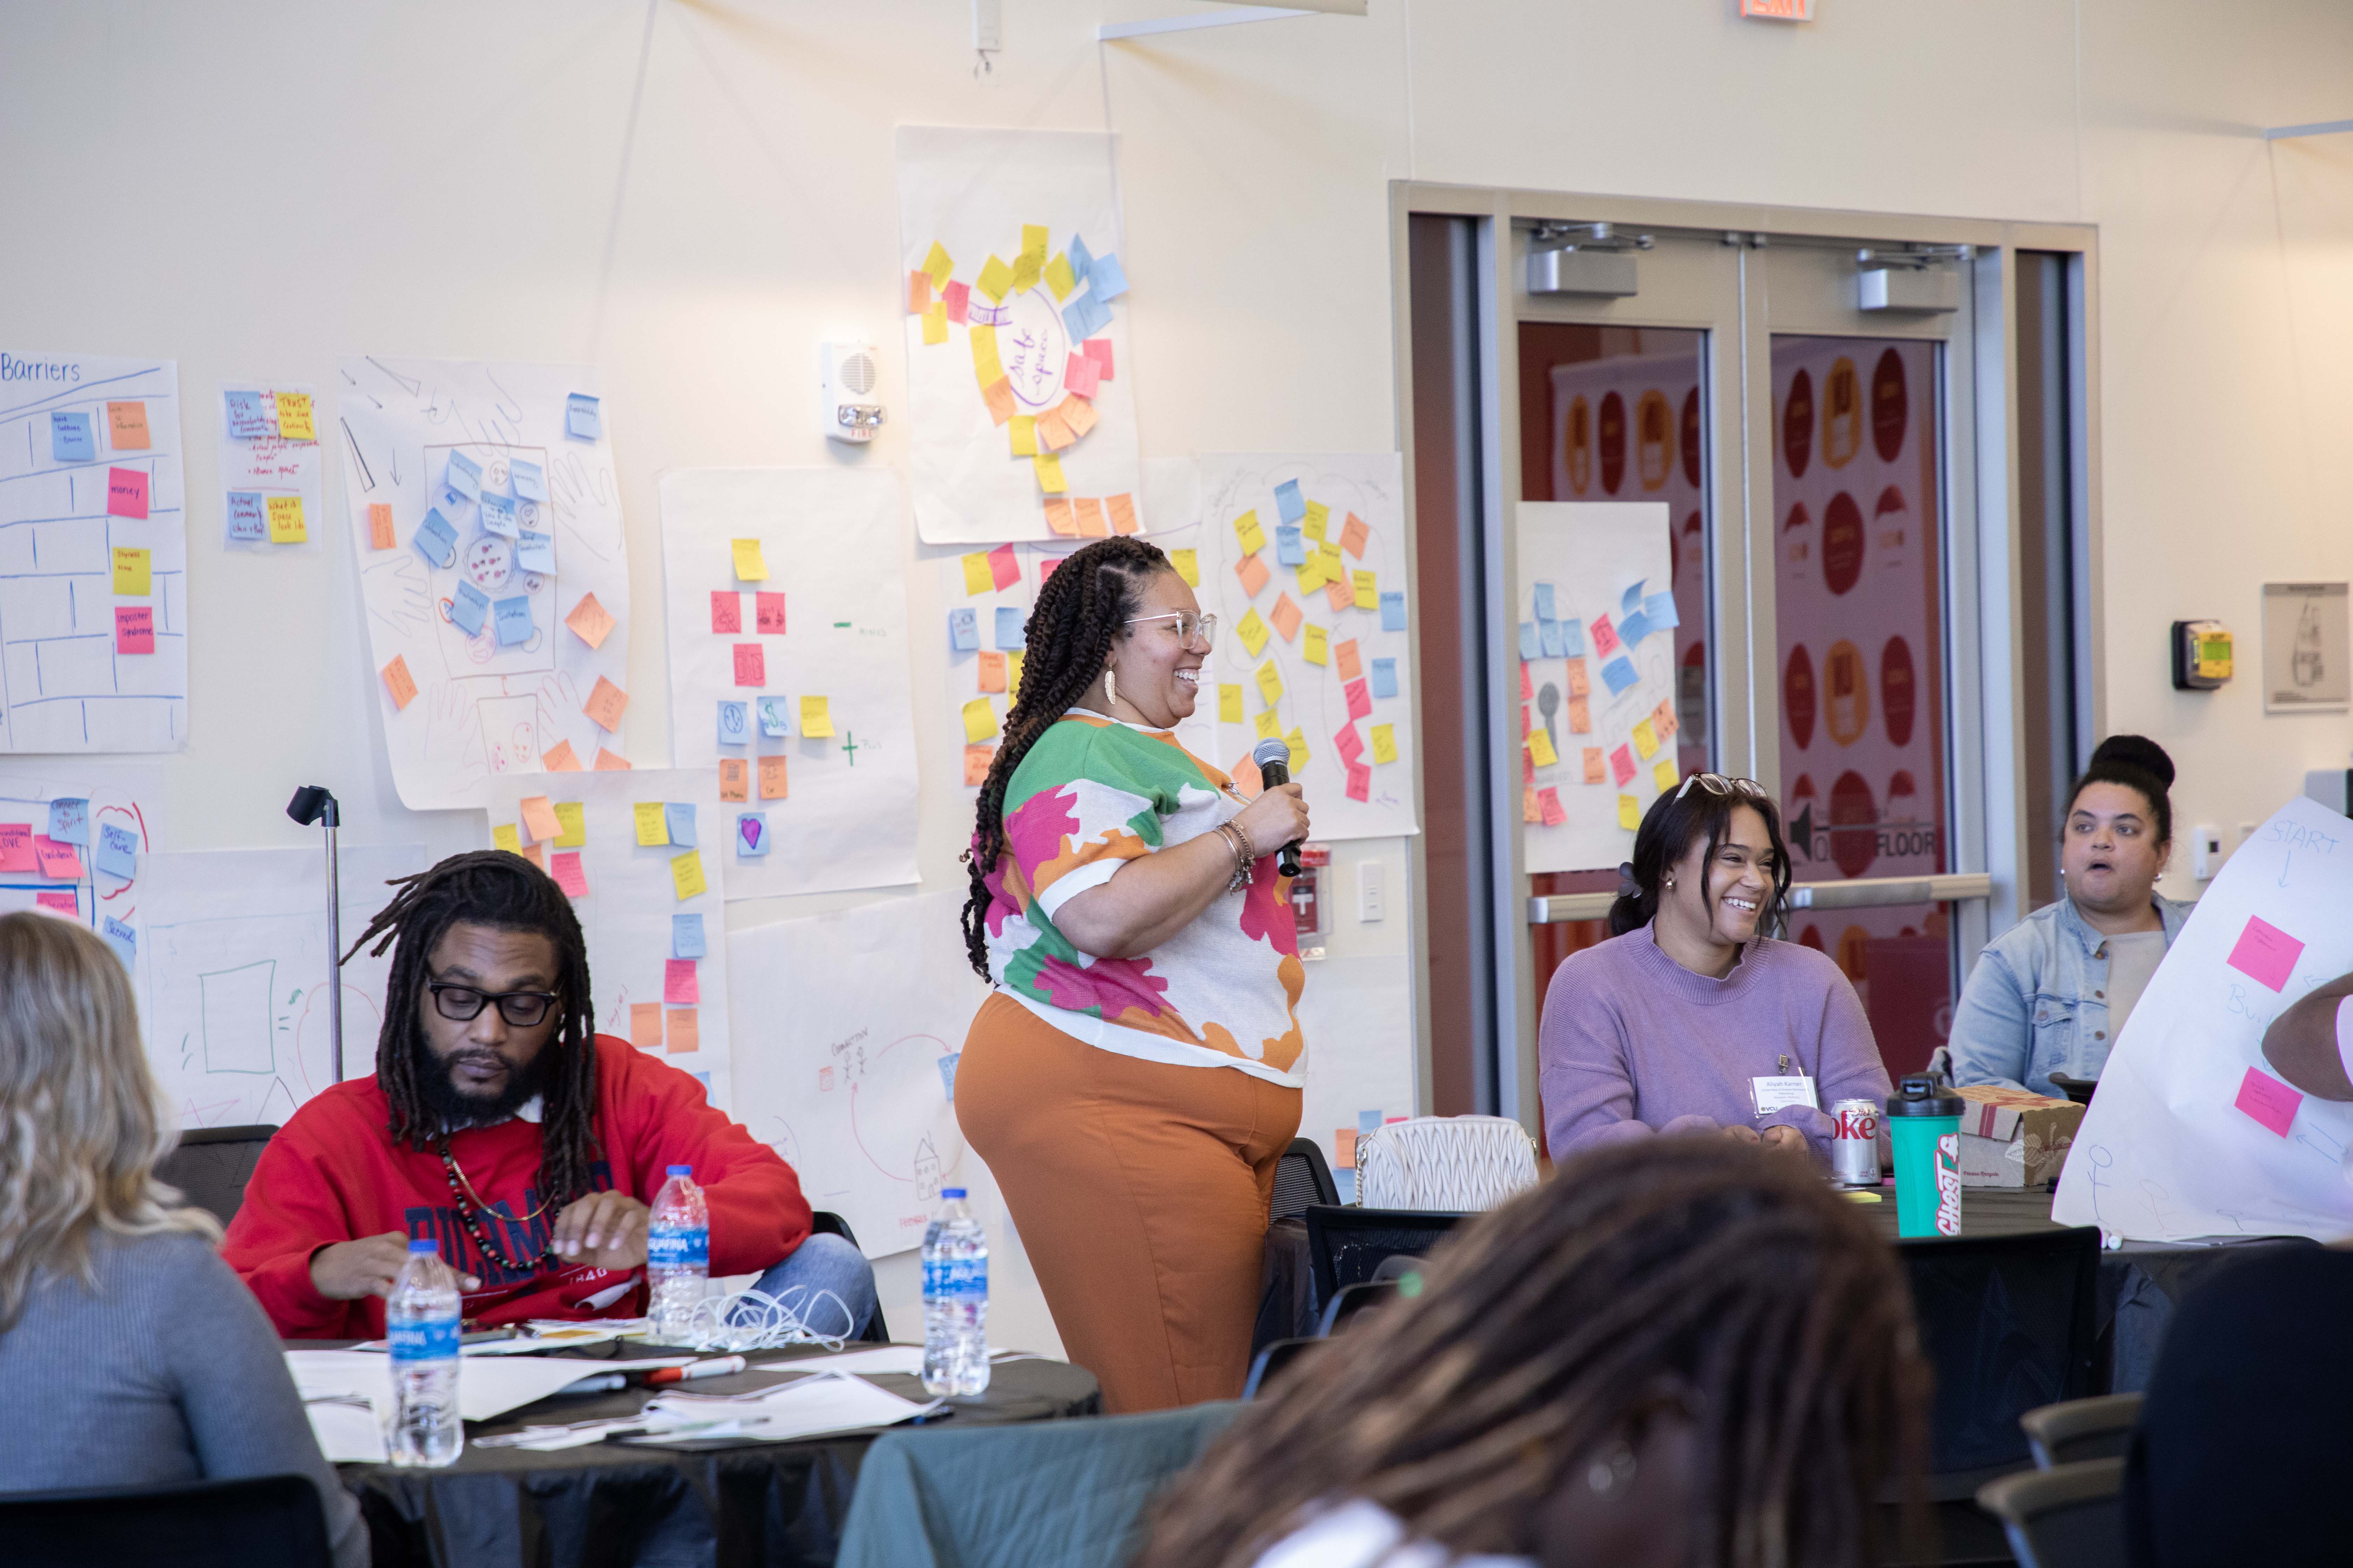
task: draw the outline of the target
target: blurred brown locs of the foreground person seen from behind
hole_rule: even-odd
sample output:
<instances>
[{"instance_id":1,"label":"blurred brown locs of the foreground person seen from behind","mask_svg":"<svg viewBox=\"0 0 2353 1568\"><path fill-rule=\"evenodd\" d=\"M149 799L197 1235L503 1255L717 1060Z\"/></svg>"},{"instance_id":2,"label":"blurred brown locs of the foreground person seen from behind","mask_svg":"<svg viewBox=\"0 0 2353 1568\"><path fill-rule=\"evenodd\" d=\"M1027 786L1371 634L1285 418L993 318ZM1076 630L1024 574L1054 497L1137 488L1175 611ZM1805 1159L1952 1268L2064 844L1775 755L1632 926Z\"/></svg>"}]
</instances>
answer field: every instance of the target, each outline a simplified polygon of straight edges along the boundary
<instances>
[{"instance_id":1,"label":"blurred brown locs of the foreground person seen from behind","mask_svg":"<svg viewBox=\"0 0 2353 1568\"><path fill-rule=\"evenodd\" d=\"M1144 1568L1242 1568L1367 1497L1459 1554L1534 1526L1680 1403L1692 1563L1878 1561L1885 1474L1918 1519L1927 1363L1894 1251L1788 1154L1647 1138L1581 1154L1433 1258L1419 1298L1252 1403L1160 1505Z\"/></svg>"}]
</instances>

